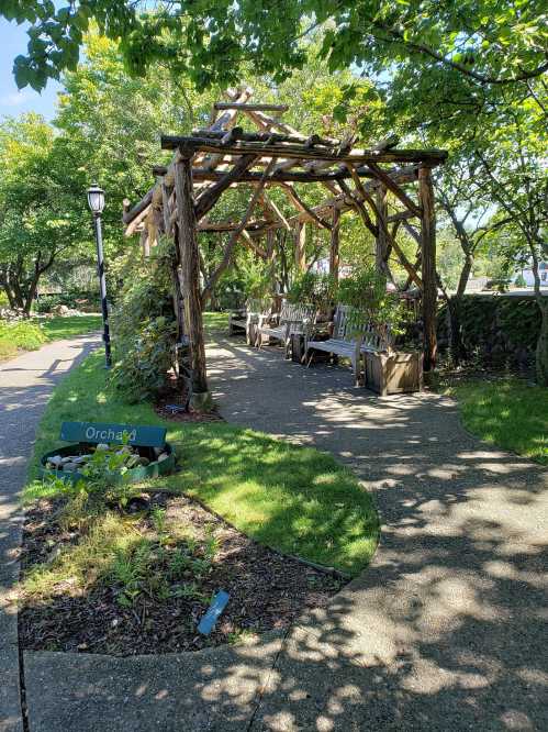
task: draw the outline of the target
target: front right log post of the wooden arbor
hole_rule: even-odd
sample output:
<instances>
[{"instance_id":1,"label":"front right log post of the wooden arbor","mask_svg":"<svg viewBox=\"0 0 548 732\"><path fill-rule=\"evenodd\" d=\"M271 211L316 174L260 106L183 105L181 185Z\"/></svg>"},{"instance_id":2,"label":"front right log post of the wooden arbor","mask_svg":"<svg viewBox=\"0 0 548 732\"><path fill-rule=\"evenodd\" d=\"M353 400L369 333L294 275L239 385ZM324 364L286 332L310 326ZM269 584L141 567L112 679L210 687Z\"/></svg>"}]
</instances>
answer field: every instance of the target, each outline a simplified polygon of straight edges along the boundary
<instances>
[{"instance_id":1,"label":"front right log post of the wooden arbor","mask_svg":"<svg viewBox=\"0 0 548 732\"><path fill-rule=\"evenodd\" d=\"M424 369L436 366L437 340L437 278L436 278L436 209L430 169L418 170L421 196L421 249L423 280L423 328L424 328Z\"/></svg>"}]
</instances>

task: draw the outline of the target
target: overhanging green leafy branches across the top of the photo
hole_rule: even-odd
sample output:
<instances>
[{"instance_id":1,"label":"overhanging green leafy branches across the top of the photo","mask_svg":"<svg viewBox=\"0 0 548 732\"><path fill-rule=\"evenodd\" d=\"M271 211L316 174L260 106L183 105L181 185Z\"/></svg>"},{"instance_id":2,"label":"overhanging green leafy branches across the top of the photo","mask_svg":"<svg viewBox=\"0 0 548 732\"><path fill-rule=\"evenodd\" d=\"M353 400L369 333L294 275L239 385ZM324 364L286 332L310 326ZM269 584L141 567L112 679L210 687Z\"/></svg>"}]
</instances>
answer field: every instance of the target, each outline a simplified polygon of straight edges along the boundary
<instances>
[{"instance_id":1,"label":"overhanging green leafy branches across the top of the photo","mask_svg":"<svg viewBox=\"0 0 548 732\"><path fill-rule=\"evenodd\" d=\"M18 85L43 88L78 62L91 21L121 38L130 68L144 73L163 59L199 89L234 84L242 64L276 80L301 68L303 41L325 34L321 55L333 69L413 64L444 68L480 85L508 85L548 69L546 3L543 0L282 0L276 11L256 0L179 0L146 12L146 2L4 0L9 20L27 22L29 48L18 56Z\"/></svg>"}]
</instances>

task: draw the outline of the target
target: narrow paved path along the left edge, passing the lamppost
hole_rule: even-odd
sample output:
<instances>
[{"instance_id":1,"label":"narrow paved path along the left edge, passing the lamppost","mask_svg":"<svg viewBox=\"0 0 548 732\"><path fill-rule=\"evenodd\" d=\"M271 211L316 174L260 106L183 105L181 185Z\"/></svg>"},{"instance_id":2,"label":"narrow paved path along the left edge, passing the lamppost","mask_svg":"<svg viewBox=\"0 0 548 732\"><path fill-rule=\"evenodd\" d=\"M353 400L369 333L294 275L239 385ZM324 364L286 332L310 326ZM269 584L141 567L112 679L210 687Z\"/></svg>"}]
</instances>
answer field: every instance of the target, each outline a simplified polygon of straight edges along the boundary
<instances>
[{"instance_id":1,"label":"narrow paved path along the left edge, passing the lamppost","mask_svg":"<svg viewBox=\"0 0 548 732\"><path fill-rule=\"evenodd\" d=\"M10 600L19 577L22 488L34 432L52 390L96 335L57 341L0 365L0 732L22 730L18 623Z\"/></svg>"}]
</instances>

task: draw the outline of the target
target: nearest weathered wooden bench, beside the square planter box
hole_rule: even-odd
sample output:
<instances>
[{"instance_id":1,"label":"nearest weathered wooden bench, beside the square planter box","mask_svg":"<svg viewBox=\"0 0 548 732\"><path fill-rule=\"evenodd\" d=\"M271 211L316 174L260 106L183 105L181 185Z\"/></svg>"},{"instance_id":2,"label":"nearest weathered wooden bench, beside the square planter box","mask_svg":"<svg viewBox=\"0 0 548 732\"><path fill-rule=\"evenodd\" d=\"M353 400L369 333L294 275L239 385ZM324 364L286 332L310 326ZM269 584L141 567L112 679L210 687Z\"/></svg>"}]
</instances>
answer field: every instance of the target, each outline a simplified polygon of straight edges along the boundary
<instances>
[{"instance_id":1,"label":"nearest weathered wooden bench, beside the square planter box","mask_svg":"<svg viewBox=\"0 0 548 732\"><path fill-rule=\"evenodd\" d=\"M349 306L337 306L333 322L333 334L327 341L305 342L305 361L310 366L314 351L324 351L342 358L349 358L353 365L356 384L360 377L361 356L367 353L382 353L391 348L390 335L381 334L365 313ZM311 352L309 357L309 352Z\"/></svg>"}]
</instances>

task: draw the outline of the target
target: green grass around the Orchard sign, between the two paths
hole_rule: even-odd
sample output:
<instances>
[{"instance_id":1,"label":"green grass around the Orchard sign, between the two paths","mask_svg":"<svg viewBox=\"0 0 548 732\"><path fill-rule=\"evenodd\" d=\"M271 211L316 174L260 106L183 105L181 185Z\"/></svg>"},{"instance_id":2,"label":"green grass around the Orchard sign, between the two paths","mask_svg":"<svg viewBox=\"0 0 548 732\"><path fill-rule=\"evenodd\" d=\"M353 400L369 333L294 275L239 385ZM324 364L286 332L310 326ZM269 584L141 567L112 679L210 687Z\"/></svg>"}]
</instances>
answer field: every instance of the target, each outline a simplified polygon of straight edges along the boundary
<instances>
[{"instance_id":1,"label":"green grass around the Orchard sign, between the two paths","mask_svg":"<svg viewBox=\"0 0 548 732\"><path fill-rule=\"evenodd\" d=\"M64 420L163 424L181 472L142 484L144 490L194 496L259 543L351 576L368 565L378 543L377 512L332 455L221 421L164 421L148 403L121 401L107 386L102 359L96 351L56 388L37 430L34 466L60 444ZM24 499L46 495L47 486L34 481Z\"/></svg>"}]
</instances>

